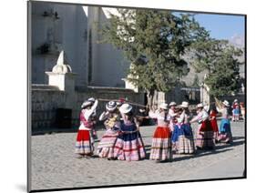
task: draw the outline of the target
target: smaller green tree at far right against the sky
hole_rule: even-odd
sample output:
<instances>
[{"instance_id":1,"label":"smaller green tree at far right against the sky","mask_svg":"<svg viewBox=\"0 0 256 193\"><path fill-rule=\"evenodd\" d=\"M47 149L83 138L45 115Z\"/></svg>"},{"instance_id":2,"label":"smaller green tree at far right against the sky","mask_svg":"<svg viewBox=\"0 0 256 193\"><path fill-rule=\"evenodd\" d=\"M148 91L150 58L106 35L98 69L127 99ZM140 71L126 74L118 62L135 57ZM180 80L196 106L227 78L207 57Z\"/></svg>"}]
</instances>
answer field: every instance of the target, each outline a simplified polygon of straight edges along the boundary
<instances>
[{"instance_id":1,"label":"smaller green tree at far right against the sky","mask_svg":"<svg viewBox=\"0 0 256 193\"><path fill-rule=\"evenodd\" d=\"M210 95L225 96L239 91L241 49L231 46L228 41L215 39L196 42L191 47L194 53L192 66L197 72L207 70L204 82L210 87Z\"/></svg>"}]
</instances>

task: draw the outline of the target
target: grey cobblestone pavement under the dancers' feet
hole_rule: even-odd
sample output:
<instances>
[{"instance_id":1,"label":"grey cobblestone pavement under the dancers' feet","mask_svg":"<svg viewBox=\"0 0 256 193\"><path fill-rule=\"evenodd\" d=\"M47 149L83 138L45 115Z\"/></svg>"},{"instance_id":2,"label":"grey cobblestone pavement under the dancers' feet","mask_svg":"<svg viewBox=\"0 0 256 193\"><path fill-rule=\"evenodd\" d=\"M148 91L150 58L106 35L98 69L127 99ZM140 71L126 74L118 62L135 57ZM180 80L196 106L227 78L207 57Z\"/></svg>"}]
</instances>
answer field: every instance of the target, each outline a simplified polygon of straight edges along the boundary
<instances>
[{"instance_id":1,"label":"grey cobblestone pavement under the dancers' feet","mask_svg":"<svg viewBox=\"0 0 256 193\"><path fill-rule=\"evenodd\" d=\"M147 158L135 162L98 157L79 159L74 154L77 133L33 136L32 189L242 177L245 164L244 122L231 123L231 128L234 139L231 145L218 144L215 150L198 150L193 156L175 154L174 160L167 163L148 160L155 127L140 128ZM103 133L104 130L98 131L98 137Z\"/></svg>"}]
</instances>

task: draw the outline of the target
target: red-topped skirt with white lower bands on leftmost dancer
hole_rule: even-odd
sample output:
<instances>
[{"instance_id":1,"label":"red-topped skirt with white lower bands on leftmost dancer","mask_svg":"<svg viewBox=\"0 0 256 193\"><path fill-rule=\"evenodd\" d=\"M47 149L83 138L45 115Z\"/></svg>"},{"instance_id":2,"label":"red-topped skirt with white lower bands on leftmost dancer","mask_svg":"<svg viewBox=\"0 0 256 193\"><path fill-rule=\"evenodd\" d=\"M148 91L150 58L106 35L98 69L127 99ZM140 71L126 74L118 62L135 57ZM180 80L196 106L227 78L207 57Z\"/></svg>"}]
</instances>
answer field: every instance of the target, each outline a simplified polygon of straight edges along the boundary
<instances>
[{"instance_id":1,"label":"red-topped skirt with white lower bands on leftmost dancer","mask_svg":"<svg viewBox=\"0 0 256 193\"><path fill-rule=\"evenodd\" d=\"M93 151L94 147L90 131L78 130L75 152L81 155L92 155Z\"/></svg>"}]
</instances>

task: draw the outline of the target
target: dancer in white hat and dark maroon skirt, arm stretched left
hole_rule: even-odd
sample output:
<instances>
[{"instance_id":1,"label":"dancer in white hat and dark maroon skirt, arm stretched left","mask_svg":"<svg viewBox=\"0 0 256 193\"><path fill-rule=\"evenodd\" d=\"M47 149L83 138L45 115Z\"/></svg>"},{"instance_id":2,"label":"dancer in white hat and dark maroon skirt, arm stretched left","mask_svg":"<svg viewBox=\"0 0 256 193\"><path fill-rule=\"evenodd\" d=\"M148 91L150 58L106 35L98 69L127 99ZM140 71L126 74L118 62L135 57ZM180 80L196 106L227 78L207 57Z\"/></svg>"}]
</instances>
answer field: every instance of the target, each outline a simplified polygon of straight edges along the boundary
<instances>
[{"instance_id":1,"label":"dancer in white hat and dark maroon skirt, arm stretched left","mask_svg":"<svg viewBox=\"0 0 256 193\"><path fill-rule=\"evenodd\" d=\"M197 106L197 109L198 116L192 118L192 120L189 122L193 123L198 121L199 123L196 146L203 149L212 149L215 146L215 143L209 115L201 103Z\"/></svg>"}]
</instances>

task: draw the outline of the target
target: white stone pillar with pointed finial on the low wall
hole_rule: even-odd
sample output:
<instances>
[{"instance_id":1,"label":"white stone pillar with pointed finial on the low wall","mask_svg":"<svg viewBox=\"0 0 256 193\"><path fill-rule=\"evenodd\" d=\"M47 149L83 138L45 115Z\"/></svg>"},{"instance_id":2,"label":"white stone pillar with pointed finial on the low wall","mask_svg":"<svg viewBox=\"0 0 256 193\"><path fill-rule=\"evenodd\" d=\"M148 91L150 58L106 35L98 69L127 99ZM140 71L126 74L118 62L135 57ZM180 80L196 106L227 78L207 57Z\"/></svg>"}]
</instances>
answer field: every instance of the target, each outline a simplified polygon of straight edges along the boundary
<instances>
[{"instance_id":1,"label":"white stone pillar with pointed finial on the low wall","mask_svg":"<svg viewBox=\"0 0 256 193\"><path fill-rule=\"evenodd\" d=\"M72 73L71 67L67 64L67 59L64 51L61 51L58 56L56 66L52 72L46 72L48 76L48 85L57 86L59 90L66 93L66 108L73 108L76 104L75 95L75 79L77 74Z\"/></svg>"}]
</instances>

